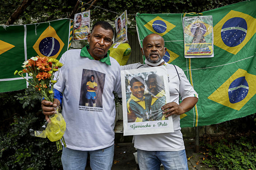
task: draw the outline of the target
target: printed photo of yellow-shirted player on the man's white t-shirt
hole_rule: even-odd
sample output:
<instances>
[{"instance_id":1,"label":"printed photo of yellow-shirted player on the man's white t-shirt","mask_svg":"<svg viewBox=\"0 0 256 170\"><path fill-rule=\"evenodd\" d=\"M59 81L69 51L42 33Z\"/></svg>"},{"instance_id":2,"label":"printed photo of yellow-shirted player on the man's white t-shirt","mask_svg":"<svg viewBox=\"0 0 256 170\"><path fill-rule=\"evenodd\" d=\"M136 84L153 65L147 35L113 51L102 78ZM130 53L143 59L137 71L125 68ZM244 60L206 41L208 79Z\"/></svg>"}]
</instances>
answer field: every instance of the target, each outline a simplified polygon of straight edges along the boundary
<instances>
[{"instance_id":1,"label":"printed photo of yellow-shirted player on the man's white t-shirt","mask_svg":"<svg viewBox=\"0 0 256 170\"><path fill-rule=\"evenodd\" d=\"M104 84L104 73L83 69L79 105L102 108Z\"/></svg>"}]
</instances>

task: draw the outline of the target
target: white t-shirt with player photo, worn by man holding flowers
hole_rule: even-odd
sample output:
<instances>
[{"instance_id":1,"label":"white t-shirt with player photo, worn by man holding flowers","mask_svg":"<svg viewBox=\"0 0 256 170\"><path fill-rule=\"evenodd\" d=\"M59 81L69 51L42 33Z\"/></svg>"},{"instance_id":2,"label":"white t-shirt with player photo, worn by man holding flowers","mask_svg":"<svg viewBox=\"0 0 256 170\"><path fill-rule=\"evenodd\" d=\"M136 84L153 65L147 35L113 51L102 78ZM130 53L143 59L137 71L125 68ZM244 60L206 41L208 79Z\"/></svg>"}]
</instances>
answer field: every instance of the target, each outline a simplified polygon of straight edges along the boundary
<instances>
[{"instance_id":1,"label":"white t-shirt with player photo, worn by man holding flowers","mask_svg":"<svg viewBox=\"0 0 256 170\"><path fill-rule=\"evenodd\" d=\"M98 150L114 144L115 102L113 91L121 97L120 65L110 57L111 65L80 56L81 49L65 52L60 62L59 80L54 88L63 94L62 114L66 121L64 134L68 148ZM85 106L86 82L94 74L96 94L102 94L102 106ZM103 78L102 78L103 77ZM101 92L100 92L101 90ZM82 97L81 97L82 96ZM86 110L86 109L89 109Z\"/></svg>"}]
</instances>

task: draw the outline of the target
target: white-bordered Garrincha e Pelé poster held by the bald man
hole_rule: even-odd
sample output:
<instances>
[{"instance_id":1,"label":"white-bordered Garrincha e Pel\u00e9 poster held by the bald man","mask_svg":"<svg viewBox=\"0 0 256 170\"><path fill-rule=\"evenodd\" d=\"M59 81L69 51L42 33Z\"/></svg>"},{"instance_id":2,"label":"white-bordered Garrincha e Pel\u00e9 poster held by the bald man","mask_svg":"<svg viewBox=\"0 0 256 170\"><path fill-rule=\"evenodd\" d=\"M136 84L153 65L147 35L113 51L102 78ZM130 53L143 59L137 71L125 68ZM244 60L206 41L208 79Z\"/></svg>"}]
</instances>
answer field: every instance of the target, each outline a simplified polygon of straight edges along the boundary
<instances>
[{"instance_id":1,"label":"white-bordered Garrincha e Pel\u00e9 poster held by the bald man","mask_svg":"<svg viewBox=\"0 0 256 170\"><path fill-rule=\"evenodd\" d=\"M124 135L173 132L172 116L161 107L170 102L164 66L121 71Z\"/></svg>"}]
</instances>

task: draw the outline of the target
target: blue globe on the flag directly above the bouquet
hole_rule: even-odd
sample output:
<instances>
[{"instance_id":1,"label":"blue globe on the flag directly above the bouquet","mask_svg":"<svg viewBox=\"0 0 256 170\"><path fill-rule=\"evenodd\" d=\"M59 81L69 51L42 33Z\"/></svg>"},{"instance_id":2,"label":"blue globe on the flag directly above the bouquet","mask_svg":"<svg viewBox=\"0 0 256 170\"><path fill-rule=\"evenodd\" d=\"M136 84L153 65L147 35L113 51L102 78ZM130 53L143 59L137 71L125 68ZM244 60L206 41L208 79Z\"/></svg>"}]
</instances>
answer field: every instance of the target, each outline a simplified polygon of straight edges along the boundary
<instances>
[{"instance_id":1,"label":"blue globe on the flag directly above the bouquet","mask_svg":"<svg viewBox=\"0 0 256 170\"><path fill-rule=\"evenodd\" d=\"M54 37L46 37L39 43L39 51L47 57L54 56L59 52L60 44Z\"/></svg>"}]
</instances>

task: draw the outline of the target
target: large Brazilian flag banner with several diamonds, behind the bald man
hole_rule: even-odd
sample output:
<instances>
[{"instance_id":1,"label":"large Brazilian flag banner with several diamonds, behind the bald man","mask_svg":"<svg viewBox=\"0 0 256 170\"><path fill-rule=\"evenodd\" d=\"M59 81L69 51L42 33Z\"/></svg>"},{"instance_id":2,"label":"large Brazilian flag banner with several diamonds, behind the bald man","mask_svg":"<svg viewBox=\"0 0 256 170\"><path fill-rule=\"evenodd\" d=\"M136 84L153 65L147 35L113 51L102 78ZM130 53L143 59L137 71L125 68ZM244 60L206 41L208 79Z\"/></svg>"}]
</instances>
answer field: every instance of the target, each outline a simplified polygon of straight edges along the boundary
<instances>
[{"instance_id":1,"label":"large Brazilian flag banner with several diamonds, behind the bald man","mask_svg":"<svg viewBox=\"0 0 256 170\"><path fill-rule=\"evenodd\" d=\"M184 57L185 14L137 13L141 46L148 34L162 36L167 48L163 59L181 67L198 93L197 105L180 116L181 127L218 124L256 113L255 7L256 0L248 0L202 12L213 18L212 58Z\"/></svg>"}]
</instances>

